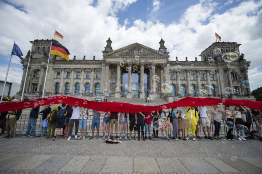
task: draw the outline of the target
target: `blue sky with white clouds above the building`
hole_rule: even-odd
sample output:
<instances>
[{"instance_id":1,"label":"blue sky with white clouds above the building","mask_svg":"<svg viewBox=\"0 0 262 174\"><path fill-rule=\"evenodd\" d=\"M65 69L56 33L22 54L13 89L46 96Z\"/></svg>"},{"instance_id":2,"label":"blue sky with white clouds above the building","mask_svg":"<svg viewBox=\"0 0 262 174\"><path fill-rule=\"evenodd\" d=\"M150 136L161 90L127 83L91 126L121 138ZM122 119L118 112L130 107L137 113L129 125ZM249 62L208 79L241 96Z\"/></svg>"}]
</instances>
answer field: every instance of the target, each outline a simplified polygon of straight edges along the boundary
<instances>
[{"instance_id":1,"label":"blue sky with white clouds above the building","mask_svg":"<svg viewBox=\"0 0 262 174\"><path fill-rule=\"evenodd\" d=\"M138 42L158 50L161 38L171 60L180 53L194 60L215 42L237 42L252 61L252 89L262 86L262 0L0 0L0 79L5 79L13 42L24 55L29 41L56 38L70 59L102 59L108 37L116 50ZM8 81L21 82L22 65L12 57Z\"/></svg>"}]
</instances>

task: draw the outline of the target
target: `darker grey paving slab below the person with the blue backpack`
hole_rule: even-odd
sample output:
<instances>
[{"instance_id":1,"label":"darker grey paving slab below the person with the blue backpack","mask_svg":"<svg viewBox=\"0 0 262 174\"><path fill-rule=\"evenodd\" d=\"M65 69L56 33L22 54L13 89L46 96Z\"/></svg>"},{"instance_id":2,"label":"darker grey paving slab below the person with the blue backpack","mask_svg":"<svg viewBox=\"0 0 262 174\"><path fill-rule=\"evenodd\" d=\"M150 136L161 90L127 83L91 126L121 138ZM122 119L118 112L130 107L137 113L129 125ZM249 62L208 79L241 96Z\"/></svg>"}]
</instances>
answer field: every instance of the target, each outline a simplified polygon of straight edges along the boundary
<instances>
[{"instance_id":1,"label":"darker grey paving slab below the person with the blue backpack","mask_svg":"<svg viewBox=\"0 0 262 174\"><path fill-rule=\"evenodd\" d=\"M58 171L67 162L69 162L71 158L72 157L70 156L54 156L39 165L35 168L35 170Z\"/></svg>"}]
</instances>

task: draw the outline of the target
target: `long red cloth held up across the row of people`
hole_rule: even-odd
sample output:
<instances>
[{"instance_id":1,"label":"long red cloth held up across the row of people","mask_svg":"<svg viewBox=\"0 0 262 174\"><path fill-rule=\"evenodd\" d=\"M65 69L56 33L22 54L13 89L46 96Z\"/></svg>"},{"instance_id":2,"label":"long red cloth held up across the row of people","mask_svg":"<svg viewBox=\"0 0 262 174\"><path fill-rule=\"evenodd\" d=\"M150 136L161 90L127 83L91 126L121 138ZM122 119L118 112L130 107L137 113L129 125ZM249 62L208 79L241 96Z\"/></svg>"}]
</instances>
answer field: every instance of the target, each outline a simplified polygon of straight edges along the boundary
<instances>
[{"instance_id":1,"label":"long red cloth held up across the row of people","mask_svg":"<svg viewBox=\"0 0 262 174\"><path fill-rule=\"evenodd\" d=\"M182 106L213 106L222 103L228 106L247 106L255 109L262 109L262 102L252 100L232 100L232 99L217 99L217 98L197 98L185 97L179 101L166 103L158 106L143 106L130 103L119 102L95 102L76 97L69 96L53 96L43 99L28 100L22 102L2 102L0 103L0 113L9 110L21 110L25 108L32 108L44 105L54 105L58 103L65 103L68 105L80 106L99 111L110 112L125 112L125 113L139 113L154 110L162 110L164 108L182 107Z\"/></svg>"}]
</instances>

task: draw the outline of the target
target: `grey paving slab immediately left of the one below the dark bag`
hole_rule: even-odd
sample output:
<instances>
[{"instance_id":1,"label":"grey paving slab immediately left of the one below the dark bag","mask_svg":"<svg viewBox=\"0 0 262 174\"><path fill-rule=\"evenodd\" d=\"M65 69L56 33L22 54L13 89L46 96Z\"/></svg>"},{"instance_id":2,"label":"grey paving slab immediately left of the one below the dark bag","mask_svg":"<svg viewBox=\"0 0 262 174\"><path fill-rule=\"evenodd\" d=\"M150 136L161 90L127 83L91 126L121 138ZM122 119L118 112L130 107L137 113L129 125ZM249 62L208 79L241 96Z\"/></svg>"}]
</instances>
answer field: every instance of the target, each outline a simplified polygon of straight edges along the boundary
<instances>
[{"instance_id":1,"label":"grey paving slab immediately left of the one below the dark bag","mask_svg":"<svg viewBox=\"0 0 262 174\"><path fill-rule=\"evenodd\" d=\"M104 166L106 157L92 156L81 172L100 172Z\"/></svg>"}]
</instances>

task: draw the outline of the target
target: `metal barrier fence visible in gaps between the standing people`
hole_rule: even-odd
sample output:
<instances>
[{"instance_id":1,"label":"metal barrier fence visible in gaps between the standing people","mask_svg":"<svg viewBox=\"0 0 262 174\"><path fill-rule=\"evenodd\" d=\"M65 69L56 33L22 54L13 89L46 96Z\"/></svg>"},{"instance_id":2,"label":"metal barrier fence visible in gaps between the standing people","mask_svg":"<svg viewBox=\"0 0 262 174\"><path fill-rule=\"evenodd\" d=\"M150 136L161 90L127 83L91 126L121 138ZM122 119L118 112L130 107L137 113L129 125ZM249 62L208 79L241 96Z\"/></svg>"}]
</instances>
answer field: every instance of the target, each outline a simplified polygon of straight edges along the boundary
<instances>
[{"instance_id":1,"label":"metal barrier fence visible in gaps between the standing people","mask_svg":"<svg viewBox=\"0 0 262 174\"><path fill-rule=\"evenodd\" d=\"M92 113L92 112L90 112L90 113ZM36 121L36 134L39 131L41 119L42 119L42 114L39 114L39 117ZM89 115L88 120L87 120L86 134L92 133L92 129L91 129L92 119L93 119L93 115ZM27 130L28 121L29 121L29 114L21 114L20 119L16 121L15 134L25 134L25 132ZM253 131L253 130L257 131L256 125L253 126L253 124L254 123L252 122L251 127L250 127L250 132ZM211 123L210 132L211 132L211 135L214 137L214 127L213 126L214 125ZM255 127L255 129L254 129L254 127ZM121 130L121 126L119 124L119 126L118 126L118 133L119 134L120 134L120 130ZM129 119L128 118L127 118L126 131L127 131L127 135L130 135ZM224 134L225 137L226 137L227 131L228 131L228 128L225 125L225 121L221 121L220 134L221 135ZM75 133L75 128L73 129L73 132ZM78 130L78 132L80 133L80 130ZM100 130L99 133L101 134L102 130ZM107 134L107 130L105 131L105 133ZM151 124L151 128L150 128L150 134L152 135L152 133L153 133L153 124ZM115 129L113 129L113 134L115 135ZM159 132L159 134L161 134L161 132ZM186 134L186 131L185 131L185 134ZM207 134L207 131L206 131L206 134ZM96 135L96 131L95 131L95 135ZM204 135L204 133L202 132L202 126L201 125L200 125L200 135ZM172 127L168 129L168 136L172 137ZM152 135L152 137L153 137L153 135Z\"/></svg>"}]
</instances>

